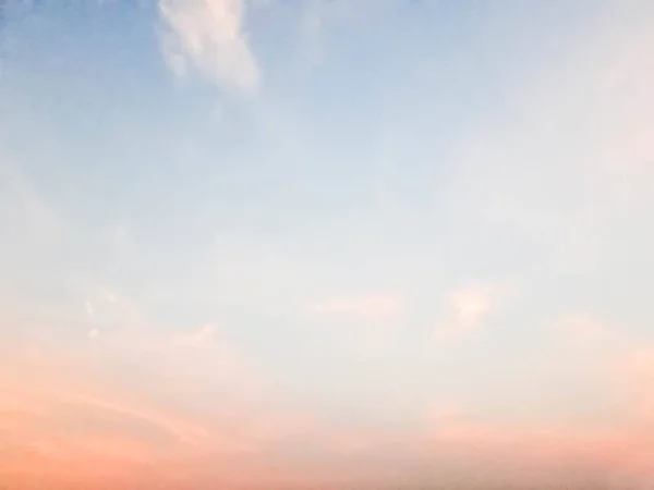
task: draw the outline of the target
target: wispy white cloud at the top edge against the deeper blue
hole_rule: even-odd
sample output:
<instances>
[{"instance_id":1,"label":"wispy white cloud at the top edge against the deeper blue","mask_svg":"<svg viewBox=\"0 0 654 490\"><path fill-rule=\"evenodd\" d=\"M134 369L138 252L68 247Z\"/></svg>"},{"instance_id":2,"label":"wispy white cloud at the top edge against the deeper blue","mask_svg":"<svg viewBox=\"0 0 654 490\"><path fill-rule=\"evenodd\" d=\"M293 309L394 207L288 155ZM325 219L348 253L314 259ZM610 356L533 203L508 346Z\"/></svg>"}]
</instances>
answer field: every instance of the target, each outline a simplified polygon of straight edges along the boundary
<instances>
[{"instance_id":1,"label":"wispy white cloud at the top edge against the deeper blue","mask_svg":"<svg viewBox=\"0 0 654 490\"><path fill-rule=\"evenodd\" d=\"M244 32L244 0L159 0L162 49L177 75L192 68L223 88L254 91L259 69Z\"/></svg>"}]
</instances>

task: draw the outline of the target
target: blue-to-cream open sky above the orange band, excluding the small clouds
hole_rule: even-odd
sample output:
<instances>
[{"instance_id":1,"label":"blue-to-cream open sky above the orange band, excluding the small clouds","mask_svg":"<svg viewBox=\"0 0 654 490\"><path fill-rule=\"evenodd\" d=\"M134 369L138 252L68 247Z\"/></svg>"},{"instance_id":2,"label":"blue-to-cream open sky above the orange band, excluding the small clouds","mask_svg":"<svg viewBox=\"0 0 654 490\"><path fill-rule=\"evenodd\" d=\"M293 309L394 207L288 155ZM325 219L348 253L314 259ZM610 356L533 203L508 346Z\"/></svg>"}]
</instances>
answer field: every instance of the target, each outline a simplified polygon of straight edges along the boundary
<instances>
[{"instance_id":1,"label":"blue-to-cream open sky above the orange band, excluding the small clouds","mask_svg":"<svg viewBox=\"0 0 654 490\"><path fill-rule=\"evenodd\" d=\"M415 428L440 404L619 417L607 366L654 342L654 148L623 143L654 136L652 64L629 64L654 46L650 2L247 4L251 94L171 73L156 2L82 3L10 0L0 27L0 294L37 318L0 339L140 379L143 322L150 340L216 324L277 402L346 426ZM610 70L635 89L603 96ZM642 162L617 189L603 156ZM439 340L474 284L497 298ZM315 311L362 295L400 306ZM614 340L576 350L576 315Z\"/></svg>"}]
</instances>

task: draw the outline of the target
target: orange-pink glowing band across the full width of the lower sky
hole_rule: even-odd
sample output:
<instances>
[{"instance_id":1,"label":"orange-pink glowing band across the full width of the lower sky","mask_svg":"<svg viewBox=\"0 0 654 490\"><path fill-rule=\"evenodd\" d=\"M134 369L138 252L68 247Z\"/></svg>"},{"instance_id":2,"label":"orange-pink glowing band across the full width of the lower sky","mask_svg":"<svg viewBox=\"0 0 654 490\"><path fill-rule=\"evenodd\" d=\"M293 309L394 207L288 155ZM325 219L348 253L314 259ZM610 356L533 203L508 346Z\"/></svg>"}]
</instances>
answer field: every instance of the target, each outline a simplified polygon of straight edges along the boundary
<instances>
[{"instance_id":1,"label":"orange-pink glowing band across the full width of the lower sky","mask_svg":"<svg viewBox=\"0 0 654 490\"><path fill-rule=\"evenodd\" d=\"M530 485L570 476L654 477L654 438L642 437L642 419L584 431L493 426L449 411L415 430L355 431L301 414L270 417L265 406L243 406L229 419L184 415L135 392L110 390L78 363L5 360L3 372L12 376L0 380L0 480L16 490L373 488L448 478L464 486L467 475Z\"/></svg>"}]
</instances>

